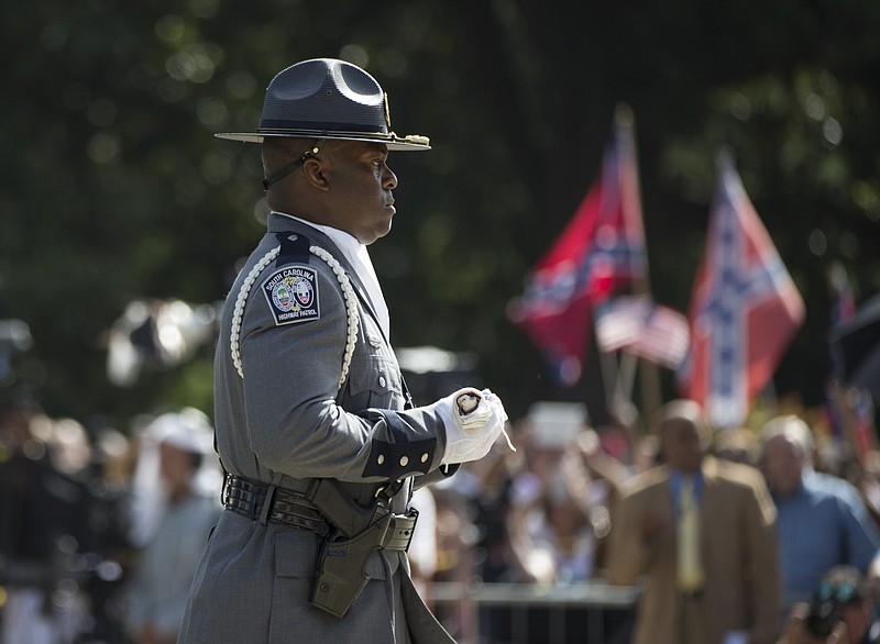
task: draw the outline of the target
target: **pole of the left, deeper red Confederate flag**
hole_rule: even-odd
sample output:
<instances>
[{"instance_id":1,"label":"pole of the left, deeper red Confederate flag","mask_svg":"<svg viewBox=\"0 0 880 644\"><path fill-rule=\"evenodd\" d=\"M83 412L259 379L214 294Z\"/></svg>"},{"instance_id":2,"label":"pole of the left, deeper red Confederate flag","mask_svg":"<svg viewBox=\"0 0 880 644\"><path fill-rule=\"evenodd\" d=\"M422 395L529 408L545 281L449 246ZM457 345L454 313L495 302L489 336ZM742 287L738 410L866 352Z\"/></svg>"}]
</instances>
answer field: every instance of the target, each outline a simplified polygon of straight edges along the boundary
<instances>
[{"instance_id":1,"label":"pole of the left, deeper red Confederate flag","mask_svg":"<svg viewBox=\"0 0 880 644\"><path fill-rule=\"evenodd\" d=\"M638 220L642 230L642 244L645 245L645 269L636 277L632 284L632 290L636 295L645 295L651 297L650 277L648 273L648 246L645 241L645 224L638 204L641 203L641 188L639 181L639 167L638 155L636 146L636 119L632 114L631 108L626 103L618 103L614 111L614 120L619 130L625 130L629 133L626 138L626 144L630 146L630 154L632 155L632 174L634 174L634 191L636 196L634 201L626 200L623 203L624 216L627 221ZM626 190L622 190L623 195L627 195ZM657 365L650 360L639 359L639 385L641 386L641 400L645 407L645 421L647 426L653 428L657 424L658 413L660 411L661 395L660 395L660 374ZM631 397L631 391L629 392Z\"/></svg>"}]
</instances>

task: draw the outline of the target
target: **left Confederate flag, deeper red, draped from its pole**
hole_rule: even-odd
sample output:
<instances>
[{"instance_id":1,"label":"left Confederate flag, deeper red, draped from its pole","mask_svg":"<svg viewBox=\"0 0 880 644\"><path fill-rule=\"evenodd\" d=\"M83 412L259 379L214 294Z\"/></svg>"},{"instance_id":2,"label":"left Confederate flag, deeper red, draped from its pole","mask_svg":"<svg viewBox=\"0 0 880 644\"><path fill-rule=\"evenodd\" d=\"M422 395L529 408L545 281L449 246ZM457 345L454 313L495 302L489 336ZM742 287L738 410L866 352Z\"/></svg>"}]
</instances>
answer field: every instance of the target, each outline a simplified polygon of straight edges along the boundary
<instances>
[{"instance_id":1,"label":"left Confederate flag, deeper red, draped from its pole","mask_svg":"<svg viewBox=\"0 0 880 644\"><path fill-rule=\"evenodd\" d=\"M526 280L508 318L541 348L556 378L581 377L593 307L645 277L645 233L631 114L618 110L602 170L553 246Z\"/></svg>"}]
</instances>

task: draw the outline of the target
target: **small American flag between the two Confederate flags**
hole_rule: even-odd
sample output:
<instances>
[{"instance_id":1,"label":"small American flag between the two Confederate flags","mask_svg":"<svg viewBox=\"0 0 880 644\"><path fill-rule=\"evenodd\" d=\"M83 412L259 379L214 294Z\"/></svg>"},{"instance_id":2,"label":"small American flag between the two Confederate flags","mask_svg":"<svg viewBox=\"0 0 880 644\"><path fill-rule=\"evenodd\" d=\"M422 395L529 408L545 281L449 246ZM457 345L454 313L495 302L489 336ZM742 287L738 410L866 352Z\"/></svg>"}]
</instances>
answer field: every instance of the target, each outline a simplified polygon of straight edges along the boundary
<instances>
[{"instance_id":1,"label":"small American flag between the two Confederate flags","mask_svg":"<svg viewBox=\"0 0 880 644\"><path fill-rule=\"evenodd\" d=\"M691 343L688 318L649 296L619 296L596 309L596 342L604 352L625 349L675 369Z\"/></svg>"}]
</instances>

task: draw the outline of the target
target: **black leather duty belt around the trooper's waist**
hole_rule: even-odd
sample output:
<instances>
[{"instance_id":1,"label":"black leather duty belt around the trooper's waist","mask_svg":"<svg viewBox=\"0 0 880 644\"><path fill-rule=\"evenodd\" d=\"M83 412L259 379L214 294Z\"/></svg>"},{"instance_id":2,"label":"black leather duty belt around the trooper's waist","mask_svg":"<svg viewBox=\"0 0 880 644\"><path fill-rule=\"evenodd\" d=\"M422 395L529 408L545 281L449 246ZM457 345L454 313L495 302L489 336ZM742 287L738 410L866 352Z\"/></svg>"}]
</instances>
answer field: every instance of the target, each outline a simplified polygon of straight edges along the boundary
<instances>
[{"instance_id":1,"label":"black leather duty belt around the trooper's waist","mask_svg":"<svg viewBox=\"0 0 880 644\"><path fill-rule=\"evenodd\" d=\"M268 508L266 499L268 498ZM252 521L262 520L283 523L299 530L308 530L328 536L332 524L302 496L284 488L273 488L264 482L228 474L223 486L223 507ZM383 549L403 551L409 547L416 528L418 512L410 509L406 514L392 514L388 531L382 542Z\"/></svg>"}]
</instances>

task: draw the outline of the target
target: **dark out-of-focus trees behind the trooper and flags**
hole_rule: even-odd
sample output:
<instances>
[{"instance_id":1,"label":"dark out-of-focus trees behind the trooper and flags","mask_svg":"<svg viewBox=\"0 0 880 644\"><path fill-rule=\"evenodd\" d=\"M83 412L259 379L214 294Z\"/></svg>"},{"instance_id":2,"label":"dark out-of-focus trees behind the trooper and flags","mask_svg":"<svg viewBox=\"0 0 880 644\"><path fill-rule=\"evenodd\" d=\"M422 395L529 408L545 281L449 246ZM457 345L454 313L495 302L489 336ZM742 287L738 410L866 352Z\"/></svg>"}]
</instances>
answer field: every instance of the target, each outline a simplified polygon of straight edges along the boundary
<instances>
[{"instance_id":1,"label":"dark out-of-focus trees behind the trooper and flags","mask_svg":"<svg viewBox=\"0 0 880 644\"><path fill-rule=\"evenodd\" d=\"M377 77L398 214L371 253L398 347L468 352L512 419L585 400L506 318L635 115L656 299L685 311L727 145L805 302L774 379L824 402L828 275L880 289L880 4L32 0L0 9L0 390L125 429L162 407L211 412L216 306L262 235L251 131L286 66L341 57ZM592 352L595 353L595 352ZM661 375L663 397L674 395ZM463 384L463 382L462 382ZM598 401L594 404L594 401ZM421 401L428 402L428 401ZM638 403L638 401L637 401Z\"/></svg>"}]
</instances>

